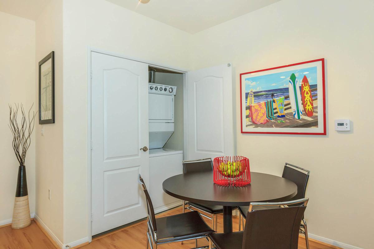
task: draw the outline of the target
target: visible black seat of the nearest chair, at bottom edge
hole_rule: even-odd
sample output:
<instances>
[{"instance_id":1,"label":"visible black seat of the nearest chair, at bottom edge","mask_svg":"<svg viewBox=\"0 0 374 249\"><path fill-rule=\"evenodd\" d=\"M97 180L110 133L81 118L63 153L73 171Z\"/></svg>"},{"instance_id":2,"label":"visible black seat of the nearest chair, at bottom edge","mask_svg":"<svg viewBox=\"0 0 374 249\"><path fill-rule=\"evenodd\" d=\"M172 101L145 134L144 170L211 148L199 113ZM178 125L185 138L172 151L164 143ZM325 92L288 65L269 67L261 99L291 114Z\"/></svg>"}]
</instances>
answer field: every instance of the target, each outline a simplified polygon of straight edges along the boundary
<instances>
[{"instance_id":1,"label":"visible black seat of the nearest chair, at bottom edge","mask_svg":"<svg viewBox=\"0 0 374 249\"><path fill-rule=\"evenodd\" d=\"M243 231L233 233L211 233L209 237L217 249L242 249Z\"/></svg>"}]
</instances>

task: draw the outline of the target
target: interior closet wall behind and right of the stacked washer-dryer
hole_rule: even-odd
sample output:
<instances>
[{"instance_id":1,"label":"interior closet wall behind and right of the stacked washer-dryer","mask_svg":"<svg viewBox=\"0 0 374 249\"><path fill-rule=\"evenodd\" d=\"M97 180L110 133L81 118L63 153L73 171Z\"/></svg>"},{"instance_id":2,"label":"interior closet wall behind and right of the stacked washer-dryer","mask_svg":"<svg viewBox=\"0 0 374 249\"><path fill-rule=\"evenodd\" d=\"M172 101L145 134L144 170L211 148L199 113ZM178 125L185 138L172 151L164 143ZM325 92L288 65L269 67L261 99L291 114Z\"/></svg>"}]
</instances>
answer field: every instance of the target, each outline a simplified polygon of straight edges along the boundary
<instances>
[{"instance_id":1,"label":"interior closet wall behind and right of the stacked washer-dryer","mask_svg":"<svg viewBox=\"0 0 374 249\"><path fill-rule=\"evenodd\" d=\"M174 97L174 133L166 142L164 148L183 150L183 74L156 72L156 84L174 85L177 87Z\"/></svg>"}]
</instances>

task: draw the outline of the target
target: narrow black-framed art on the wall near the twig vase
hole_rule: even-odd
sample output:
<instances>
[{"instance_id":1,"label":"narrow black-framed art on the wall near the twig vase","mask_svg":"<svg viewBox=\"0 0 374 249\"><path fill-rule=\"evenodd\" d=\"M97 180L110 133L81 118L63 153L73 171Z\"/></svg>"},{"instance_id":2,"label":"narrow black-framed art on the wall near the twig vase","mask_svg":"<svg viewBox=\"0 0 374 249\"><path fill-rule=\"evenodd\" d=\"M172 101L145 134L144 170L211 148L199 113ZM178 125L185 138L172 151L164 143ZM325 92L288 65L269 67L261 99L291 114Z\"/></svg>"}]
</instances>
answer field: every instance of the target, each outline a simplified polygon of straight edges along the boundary
<instances>
[{"instance_id":1,"label":"narrow black-framed art on the wall near the twig vase","mask_svg":"<svg viewBox=\"0 0 374 249\"><path fill-rule=\"evenodd\" d=\"M39 62L39 124L55 122L55 52Z\"/></svg>"}]
</instances>

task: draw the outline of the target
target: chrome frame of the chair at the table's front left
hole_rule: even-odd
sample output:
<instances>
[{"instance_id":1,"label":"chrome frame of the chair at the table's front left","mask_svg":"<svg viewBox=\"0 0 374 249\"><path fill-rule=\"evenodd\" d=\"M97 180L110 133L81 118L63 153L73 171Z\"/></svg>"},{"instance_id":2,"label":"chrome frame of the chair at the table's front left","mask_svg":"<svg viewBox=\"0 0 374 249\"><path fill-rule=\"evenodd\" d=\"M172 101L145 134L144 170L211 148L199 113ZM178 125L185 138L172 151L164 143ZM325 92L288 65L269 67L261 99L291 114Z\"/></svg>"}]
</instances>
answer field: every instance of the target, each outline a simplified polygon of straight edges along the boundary
<instances>
[{"instance_id":1,"label":"chrome frame of the chair at the table's front left","mask_svg":"<svg viewBox=\"0 0 374 249\"><path fill-rule=\"evenodd\" d=\"M145 184L142 182L142 178L139 174L138 177L138 183L142 186L143 190L147 190L147 187L145 187ZM147 209L148 209L148 204L147 204ZM191 249L208 249L209 246L200 246L197 247L197 239L202 239L205 238L208 242L208 235L199 235L199 236L193 236L193 237L188 237L186 239L173 239L173 238L165 238L165 239L157 239L157 232L154 231L152 223L150 222L150 217L149 214L147 215L147 245L146 249L148 249L148 245L150 245L151 249L157 249L157 245L162 245L162 244L168 244L168 243L174 243L174 242L183 242L187 240L196 240L196 247L191 248Z\"/></svg>"}]
</instances>

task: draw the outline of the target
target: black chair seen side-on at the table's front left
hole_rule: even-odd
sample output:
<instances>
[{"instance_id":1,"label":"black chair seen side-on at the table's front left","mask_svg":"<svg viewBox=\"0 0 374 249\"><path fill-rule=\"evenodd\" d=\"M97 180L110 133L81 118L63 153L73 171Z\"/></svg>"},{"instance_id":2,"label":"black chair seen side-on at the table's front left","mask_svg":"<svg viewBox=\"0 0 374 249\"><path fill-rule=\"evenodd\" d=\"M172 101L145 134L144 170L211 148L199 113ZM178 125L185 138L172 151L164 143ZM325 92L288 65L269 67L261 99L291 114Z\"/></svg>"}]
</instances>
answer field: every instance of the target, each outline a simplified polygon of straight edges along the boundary
<instances>
[{"instance_id":1,"label":"black chair seen side-on at the table's front left","mask_svg":"<svg viewBox=\"0 0 374 249\"><path fill-rule=\"evenodd\" d=\"M208 240L208 234L214 233L214 230L201 218L199 212L194 211L156 218L151 197L140 174L138 182L142 186L147 200L147 249L148 244L151 249L157 249L157 245L185 240L196 240L196 248L194 249L209 248L209 246L197 247L197 239L205 238Z\"/></svg>"}]
</instances>

